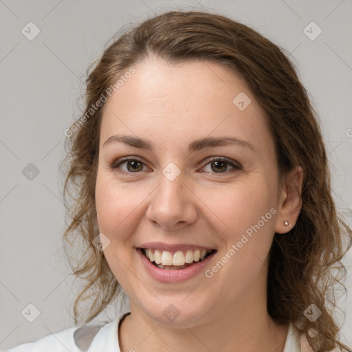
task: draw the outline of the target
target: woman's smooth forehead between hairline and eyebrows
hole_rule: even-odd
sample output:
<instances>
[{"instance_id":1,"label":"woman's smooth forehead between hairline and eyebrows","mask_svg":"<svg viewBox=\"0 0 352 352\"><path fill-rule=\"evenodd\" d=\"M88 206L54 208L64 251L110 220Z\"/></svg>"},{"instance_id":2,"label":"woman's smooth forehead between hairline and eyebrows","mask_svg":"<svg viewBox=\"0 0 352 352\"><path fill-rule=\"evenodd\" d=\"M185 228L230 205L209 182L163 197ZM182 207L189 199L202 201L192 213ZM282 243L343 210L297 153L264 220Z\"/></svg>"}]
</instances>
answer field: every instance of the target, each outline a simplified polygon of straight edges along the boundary
<instances>
[{"instance_id":1,"label":"woman's smooth forehead between hairline and eyebrows","mask_svg":"<svg viewBox=\"0 0 352 352\"><path fill-rule=\"evenodd\" d=\"M133 67L135 73L105 103L100 146L115 133L174 148L224 134L256 148L267 144L265 112L245 80L227 67L211 61L167 64L156 57Z\"/></svg>"}]
</instances>

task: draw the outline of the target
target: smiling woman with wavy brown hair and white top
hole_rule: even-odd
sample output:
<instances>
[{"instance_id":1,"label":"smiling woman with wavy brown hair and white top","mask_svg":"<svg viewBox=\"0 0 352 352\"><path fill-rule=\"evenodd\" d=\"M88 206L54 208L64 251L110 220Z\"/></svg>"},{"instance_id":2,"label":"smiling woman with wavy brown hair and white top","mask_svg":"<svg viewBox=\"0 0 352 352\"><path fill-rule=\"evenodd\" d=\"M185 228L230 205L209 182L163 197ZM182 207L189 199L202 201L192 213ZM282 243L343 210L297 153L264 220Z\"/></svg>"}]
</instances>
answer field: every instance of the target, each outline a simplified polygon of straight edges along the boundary
<instances>
[{"instance_id":1,"label":"smiling woman with wavy brown hair and white top","mask_svg":"<svg viewBox=\"0 0 352 352\"><path fill-rule=\"evenodd\" d=\"M276 45L218 14L167 12L107 47L86 102L65 132L64 194L78 190L65 239L84 248L67 254L86 281L75 322L121 288L131 310L10 351L351 351L331 285L352 232Z\"/></svg>"}]
</instances>

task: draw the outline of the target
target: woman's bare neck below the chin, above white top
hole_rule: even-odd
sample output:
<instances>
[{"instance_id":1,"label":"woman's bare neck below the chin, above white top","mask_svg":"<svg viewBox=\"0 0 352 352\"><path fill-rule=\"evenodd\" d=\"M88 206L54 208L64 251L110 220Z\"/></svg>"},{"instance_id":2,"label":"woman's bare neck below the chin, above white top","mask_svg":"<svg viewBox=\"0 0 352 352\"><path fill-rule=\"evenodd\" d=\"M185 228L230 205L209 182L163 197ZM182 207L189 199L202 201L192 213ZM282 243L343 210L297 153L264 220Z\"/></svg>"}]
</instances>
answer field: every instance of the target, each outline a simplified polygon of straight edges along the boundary
<instances>
[{"instance_id":1,"label":"woman's bare neck below the chin, above white top","mask_svg":"<svg viewBox=\"0 0 352 352\"><path fill-rule=\"evenodd\" d=\"M253 296L231 307L219 303L203 322L181 327L162 325L131 302L119 330L121 352L283 352L288 326L270 318L266 297Z\"/></svg>"}]
</instances>

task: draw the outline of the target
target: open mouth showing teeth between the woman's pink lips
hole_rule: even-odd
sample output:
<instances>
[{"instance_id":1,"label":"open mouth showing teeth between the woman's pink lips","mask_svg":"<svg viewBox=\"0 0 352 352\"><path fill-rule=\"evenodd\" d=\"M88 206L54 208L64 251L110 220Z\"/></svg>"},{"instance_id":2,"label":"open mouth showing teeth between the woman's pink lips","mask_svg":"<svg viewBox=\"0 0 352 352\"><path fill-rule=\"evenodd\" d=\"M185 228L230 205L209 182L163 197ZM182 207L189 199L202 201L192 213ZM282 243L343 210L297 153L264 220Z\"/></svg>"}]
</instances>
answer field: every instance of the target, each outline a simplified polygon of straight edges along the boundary
<instances>
[{"instance_id":1,"label":"open mouth showing teeth between the woman's pink lips","mask_svg":"<svg viewBox=\"0 0 352 352\"><path fill-rule=\"evenodd\" d=\"M178 250L166 251L152 248L137 248L155 267L164 270L183 270L197 265L216 250Z\"/></svg>"}]
</instances>

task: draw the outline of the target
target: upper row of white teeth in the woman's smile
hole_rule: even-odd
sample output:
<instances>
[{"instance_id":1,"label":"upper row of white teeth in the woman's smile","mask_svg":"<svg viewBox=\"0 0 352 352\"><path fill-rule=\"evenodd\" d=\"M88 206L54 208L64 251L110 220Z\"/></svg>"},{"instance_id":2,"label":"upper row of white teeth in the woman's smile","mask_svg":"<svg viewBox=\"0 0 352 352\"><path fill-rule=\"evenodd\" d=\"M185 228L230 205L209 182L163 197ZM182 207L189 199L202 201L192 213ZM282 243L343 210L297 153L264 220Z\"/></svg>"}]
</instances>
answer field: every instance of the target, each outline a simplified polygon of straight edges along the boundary
<instances>
[{"instance_id":1,"label":"upper row of white teeth in the woman's smile","mask_svg":"<svg viewBox=\"0 0 352 352\"><path fill-rule=\"evenodd\" d=\"M175 253L168 252L167 250L152 250L147 248L145 250L146 257L155 264L162 265L184 265L185 263L192 263L204 259L206 254L212 250L187 250L185 252L179 250Z\"/></svg>"}]
</instances>

